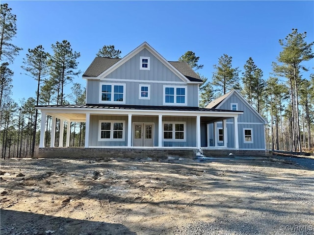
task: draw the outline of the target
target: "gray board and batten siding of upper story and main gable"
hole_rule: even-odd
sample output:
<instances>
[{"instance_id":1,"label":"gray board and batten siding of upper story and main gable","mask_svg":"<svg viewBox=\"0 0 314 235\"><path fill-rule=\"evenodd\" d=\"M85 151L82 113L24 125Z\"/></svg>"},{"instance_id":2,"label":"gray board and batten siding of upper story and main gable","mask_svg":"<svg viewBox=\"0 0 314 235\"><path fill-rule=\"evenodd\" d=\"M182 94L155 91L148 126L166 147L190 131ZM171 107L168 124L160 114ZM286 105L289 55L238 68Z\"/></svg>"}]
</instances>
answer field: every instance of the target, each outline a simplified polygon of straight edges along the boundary
<instances>
[{"instance_id":1,"label":"gray board and batten siding of upper story and main gable","mask_svg":"<svg viewBox=\"0 0 314 235\"><path fill-rule=\"evenodd\" d=\"M140 56L151 58L150 70L140 70ZM124 79L124 81L120 81ZM128 81L130 80L130 81ZM134 81L135 80L135 81ZM126 84L126 105L163 105L163 86L185 86L186 106L198 106L198 84L186 84L180 77L169 70L147 49L141 50L126 63L115 71L108 74L105 79L87 80L87 104L100 104L100 83L122 83ZM139 99L139 85L150 85L150 99Z\"/></svg>"}]
</instances>

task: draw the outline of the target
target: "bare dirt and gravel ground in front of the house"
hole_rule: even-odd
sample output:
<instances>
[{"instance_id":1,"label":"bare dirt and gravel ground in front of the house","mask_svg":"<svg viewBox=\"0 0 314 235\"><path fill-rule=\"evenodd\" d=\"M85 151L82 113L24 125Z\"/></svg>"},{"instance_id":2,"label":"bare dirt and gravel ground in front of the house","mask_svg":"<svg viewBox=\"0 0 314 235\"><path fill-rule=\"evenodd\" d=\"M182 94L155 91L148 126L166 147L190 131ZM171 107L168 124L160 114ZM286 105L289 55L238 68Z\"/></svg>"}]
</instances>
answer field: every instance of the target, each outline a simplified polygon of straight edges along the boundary
<instances>
[{"instance_id":1,"label":"bare dirt and gravel ground in front of the house","mask_svg":"<svg viewBox=\"0 0 314 235\"><path fill-rule=\"evenodd\" d=\"M314 234L314 171L288 160L0 163L1 235Z\"/></svg>"}]
</instances>

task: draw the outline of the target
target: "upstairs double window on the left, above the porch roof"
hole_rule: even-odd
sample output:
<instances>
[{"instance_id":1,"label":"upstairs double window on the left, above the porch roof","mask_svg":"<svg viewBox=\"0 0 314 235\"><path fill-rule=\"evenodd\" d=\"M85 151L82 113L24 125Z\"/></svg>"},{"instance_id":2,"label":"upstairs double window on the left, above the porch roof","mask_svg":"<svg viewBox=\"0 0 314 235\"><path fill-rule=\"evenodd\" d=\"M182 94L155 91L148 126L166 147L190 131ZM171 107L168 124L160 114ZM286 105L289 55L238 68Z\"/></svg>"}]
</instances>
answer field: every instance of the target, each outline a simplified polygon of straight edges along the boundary
<instances>
[{"instance_id":1,"label":"upstairs double window on the left, above the porch roof","mask_svg":"<svg viewBox=\"0 0 314 235\"><path fill-rule=\"evenodd\" d=\"M100 83L100 103L125 104L125 85L121 83Z\"/></svg>"}]
</instances>

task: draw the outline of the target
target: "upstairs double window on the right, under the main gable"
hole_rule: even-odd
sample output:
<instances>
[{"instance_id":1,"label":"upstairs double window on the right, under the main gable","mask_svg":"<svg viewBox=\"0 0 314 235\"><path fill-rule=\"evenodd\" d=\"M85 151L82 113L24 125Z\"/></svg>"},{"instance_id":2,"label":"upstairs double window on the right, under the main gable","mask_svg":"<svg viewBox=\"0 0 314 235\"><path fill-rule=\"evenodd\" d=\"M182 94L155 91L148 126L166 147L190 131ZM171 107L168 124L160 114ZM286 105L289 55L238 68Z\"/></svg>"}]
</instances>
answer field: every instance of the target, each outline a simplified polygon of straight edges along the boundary
<instances>
[{"instance_id":1,"label":"upstairs double window on the right, under the main gable","mask_svg":"<svg viewBox=\"0 0 314 235\"><path fill-rule=\"evenodd\" d=\"M163 86L164 105L186 105L186 87L183 86Z\"/></svg>"}]
</instances>

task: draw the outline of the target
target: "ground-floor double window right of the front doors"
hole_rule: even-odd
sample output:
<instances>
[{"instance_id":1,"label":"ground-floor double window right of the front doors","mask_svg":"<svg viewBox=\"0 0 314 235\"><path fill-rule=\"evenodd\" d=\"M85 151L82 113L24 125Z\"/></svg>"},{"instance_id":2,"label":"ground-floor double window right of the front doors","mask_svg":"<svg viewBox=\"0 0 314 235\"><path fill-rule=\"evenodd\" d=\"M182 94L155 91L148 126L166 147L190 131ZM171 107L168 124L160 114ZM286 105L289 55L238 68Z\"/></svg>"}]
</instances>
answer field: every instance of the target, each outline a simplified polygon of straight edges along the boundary
<instances>
[{"instance_id":1,"label":"ground-floor double window right of the front doors","mask_svg":"<svg viewBox=\"0 0 314 235\"><path fill-rule=\"evenodd\" d=\"M164 122L162 128L164 141L185 141L185 122Z\"/></svg>"}]
</instances>

